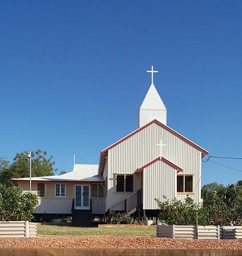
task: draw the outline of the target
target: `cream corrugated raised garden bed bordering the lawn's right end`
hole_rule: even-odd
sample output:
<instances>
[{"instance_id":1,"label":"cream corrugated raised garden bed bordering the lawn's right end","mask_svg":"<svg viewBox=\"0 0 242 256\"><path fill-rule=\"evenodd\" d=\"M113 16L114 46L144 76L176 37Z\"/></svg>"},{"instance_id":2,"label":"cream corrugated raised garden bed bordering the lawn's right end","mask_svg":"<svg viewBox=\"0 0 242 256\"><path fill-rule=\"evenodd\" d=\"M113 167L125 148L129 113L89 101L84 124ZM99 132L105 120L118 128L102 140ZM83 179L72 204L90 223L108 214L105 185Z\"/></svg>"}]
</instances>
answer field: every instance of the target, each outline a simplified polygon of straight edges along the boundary
<instances>
[{"instance_id":1,"label":"cream corrugated raised garden bed bordering the lawn's right end","mask_svg":"<svg viewBox=\"0 0 242 256\"><path fill-rule=\"evenodd\" d=\"M157 225L156 237L188 238L188 239L220 239L220 226L162 226Z\"/></svg>"}]
</instances>

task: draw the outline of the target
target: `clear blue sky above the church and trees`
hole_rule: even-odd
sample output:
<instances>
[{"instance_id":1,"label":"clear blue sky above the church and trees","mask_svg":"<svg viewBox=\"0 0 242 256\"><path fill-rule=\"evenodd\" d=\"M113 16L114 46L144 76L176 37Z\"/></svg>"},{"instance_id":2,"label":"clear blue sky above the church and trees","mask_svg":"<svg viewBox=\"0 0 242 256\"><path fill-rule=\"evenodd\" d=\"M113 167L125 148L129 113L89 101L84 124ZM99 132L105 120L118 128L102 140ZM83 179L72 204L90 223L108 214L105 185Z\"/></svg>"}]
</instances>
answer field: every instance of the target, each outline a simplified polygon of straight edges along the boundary
<instances>
[{"instance_id":1,"label":"clear blue sky above the church and trees","mask_svg":"<svg viewBox=\"0 0 242 256\"><path fill-rule=\"evenodd\" d=\"M241 1L0 4L0 157L98 164L137 128L152 65L168 126L210 156L242 157ZM210 160L202 184L242 179L242 160Z\"/></svg>"}]
</instances>

